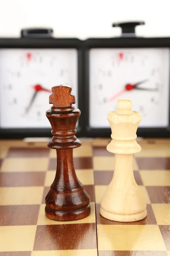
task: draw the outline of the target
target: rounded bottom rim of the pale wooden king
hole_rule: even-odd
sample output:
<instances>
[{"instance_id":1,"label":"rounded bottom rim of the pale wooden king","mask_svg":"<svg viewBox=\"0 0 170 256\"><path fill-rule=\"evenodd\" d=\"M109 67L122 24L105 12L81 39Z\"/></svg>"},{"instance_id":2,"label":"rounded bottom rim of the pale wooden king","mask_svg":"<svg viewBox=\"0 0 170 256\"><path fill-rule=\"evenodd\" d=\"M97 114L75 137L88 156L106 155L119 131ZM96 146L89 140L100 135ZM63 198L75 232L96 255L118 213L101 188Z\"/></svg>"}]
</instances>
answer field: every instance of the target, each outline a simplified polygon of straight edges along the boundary
<instances>
[{"instance_id":1,"label":"rounded bottom rim of the pale wooden king","mask_svg":"<svg viewBox=\"0 0 170 256\"><path fill-rule=\"evenodd\" d=\"M106 212L102 207L100 207L100 214L111 221L121 221L121 222L132 222L140 221L147 216L147 210L139 212L133 215L118 215L111 212Z\"/></svg>"}]
</instances>

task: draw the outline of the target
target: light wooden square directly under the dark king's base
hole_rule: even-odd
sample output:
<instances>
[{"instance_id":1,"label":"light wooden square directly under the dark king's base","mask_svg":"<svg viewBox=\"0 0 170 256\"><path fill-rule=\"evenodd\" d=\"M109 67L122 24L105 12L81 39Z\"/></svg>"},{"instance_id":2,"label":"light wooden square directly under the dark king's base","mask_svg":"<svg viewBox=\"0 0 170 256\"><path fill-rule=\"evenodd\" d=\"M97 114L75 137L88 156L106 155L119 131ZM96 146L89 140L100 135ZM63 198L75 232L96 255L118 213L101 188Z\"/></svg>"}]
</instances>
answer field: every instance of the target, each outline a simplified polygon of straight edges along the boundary
<instances>
[{"instance_id":1,"label":"light wooden square directly under the dark king's base","mask_svg":"<svg viewBox=\"0 0 170 256\"><path fill-rule=\"evenodd\" d=\"M60 225L60 224L78 224L78 223L95 223L95 203L90 202L91 205L91 214L86 218L82 218L77 221L53 221L45 216L45 204L40 206L40 211L38 215L37 225Z\"/></svg>"}]
</instances>

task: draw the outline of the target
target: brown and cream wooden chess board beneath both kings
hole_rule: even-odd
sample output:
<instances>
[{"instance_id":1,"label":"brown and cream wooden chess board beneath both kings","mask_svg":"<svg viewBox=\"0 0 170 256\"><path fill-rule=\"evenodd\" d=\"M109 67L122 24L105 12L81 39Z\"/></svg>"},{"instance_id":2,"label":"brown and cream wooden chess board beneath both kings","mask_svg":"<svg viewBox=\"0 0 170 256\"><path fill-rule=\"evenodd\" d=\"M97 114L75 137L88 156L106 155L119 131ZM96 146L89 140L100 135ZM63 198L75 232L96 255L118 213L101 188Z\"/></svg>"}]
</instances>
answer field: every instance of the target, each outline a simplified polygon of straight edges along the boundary
<instances>
[{"instance_id":1,"label":"brown and cream wooden chess board beneath both kings","mask_svg":"<svg viewBox=\"0 0 170 256\"><path fill-rule=\"evenodd\" d=\"M113 176L110 139L82 139L74 166L91 198L87 218L59 222L45 216L56 151L46 142L0 141L0 256L170 256L170 140L139 140L136 182L147 218L121 223L99 215Z\"/></svg>"}]
</instances>

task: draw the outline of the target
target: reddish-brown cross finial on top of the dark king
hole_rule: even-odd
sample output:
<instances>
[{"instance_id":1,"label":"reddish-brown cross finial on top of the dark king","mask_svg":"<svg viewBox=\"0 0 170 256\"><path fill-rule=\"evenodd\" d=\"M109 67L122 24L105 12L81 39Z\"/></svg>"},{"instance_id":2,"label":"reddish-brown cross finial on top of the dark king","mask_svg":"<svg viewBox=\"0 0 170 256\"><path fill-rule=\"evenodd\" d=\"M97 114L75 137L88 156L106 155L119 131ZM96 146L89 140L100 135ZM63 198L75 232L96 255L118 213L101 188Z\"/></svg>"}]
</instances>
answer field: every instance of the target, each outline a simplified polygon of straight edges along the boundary
<instances>
[{"instance_id":1,"label":"reddish-brown cross finial on top of the dark king","mask_svg":"<svg viewBox=\"0 0 170 256\"><path fill-rule=\"evenodd\" d=\"M71 86L57 85L52 87L52 94L49 96L49 103L56 108L67 108L75 104L75 96L71 94Z\"/></svg>"}]
</instances>

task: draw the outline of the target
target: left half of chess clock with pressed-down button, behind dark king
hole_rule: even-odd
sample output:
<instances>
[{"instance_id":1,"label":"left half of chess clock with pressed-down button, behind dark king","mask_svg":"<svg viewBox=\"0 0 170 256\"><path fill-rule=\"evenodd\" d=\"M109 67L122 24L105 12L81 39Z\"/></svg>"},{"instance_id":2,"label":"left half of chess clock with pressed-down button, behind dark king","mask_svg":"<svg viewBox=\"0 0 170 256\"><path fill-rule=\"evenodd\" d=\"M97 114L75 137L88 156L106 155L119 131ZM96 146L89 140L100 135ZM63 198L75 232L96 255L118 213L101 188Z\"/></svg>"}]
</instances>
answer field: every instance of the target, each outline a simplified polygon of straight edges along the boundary
<instances>
[{"instance_id":1,"label":"left half of chess clock with pressed-down button, behind dark king","mask_svg":"<svg viewBox=\"0 0 170 256\"><path fill-rule=\"evenodd\" d=\"M20 38L0 38L0 138L50 137L45 112L57 84L71 85L82 108L82 41L53 38L52 32L23 29Z\"/></svg>"}]
</instances>

